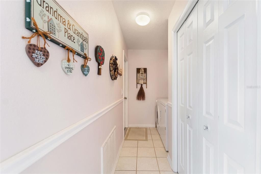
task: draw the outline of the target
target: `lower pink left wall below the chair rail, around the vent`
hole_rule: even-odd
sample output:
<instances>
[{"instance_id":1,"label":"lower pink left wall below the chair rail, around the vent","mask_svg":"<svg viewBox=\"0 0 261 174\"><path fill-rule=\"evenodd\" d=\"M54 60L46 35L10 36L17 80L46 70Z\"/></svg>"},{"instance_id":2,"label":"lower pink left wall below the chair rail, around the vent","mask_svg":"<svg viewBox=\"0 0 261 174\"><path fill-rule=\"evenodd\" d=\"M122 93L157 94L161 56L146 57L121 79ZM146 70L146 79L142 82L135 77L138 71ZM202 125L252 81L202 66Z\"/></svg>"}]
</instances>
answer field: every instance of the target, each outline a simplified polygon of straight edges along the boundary
<instances>
[{"instance_id":1,"label":"lower pink left wall below the chair rail, around the vent","mask_svg":"<svg viewBox=\"0 0 261 174\"><path fill-rule=\"evenodd\" d=\"M81 130L22 173L101 173L101 147L116 123L117 147L122 142L123 103ZM112 114L113 113L113 114Z\"/></svg>"}]
</instances>

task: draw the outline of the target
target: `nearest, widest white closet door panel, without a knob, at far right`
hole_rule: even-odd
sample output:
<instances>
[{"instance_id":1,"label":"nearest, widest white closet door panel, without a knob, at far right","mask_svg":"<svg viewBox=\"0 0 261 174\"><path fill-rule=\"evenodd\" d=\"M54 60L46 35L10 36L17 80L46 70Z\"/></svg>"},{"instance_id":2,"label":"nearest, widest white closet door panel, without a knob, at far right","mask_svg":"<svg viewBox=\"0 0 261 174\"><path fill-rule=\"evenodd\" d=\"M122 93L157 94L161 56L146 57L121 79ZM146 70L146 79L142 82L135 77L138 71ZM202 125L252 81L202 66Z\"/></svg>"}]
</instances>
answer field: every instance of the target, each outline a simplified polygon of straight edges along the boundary
<instances>
[{"instance_id":1,"label":"nearest, widest white closet door panel, without a knob, at far right","mask_svg":"<svg viewBox=\"0 0 261 174\"><path fill-rule=\"evenodd\" d=\"M219 173L255 173L256 2L219 3Z\"/></svg>"}]
</instances>

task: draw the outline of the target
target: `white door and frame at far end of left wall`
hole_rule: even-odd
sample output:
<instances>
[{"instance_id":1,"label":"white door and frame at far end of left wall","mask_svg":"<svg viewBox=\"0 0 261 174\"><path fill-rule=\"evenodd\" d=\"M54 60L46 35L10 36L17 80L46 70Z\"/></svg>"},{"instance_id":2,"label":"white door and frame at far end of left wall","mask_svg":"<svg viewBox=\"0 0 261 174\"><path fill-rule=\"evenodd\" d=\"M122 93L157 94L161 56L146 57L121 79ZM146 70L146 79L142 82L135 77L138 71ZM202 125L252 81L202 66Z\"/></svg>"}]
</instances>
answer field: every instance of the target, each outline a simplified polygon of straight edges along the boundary
<instances>
[{"instance_id":1,"label":"white door and frame at far end of left wall","mask_svg":"<svg viewBox=\"0 0 261 174\"><path fill-rule=\"evenodd\" d=\"M125 62L124 62L125 61ZM128 57L123 50L123 129L128 127ZM127 100L124 99L127 97ZM124 138L124 134L123 134Z\"/></svg>"}]
</instances>

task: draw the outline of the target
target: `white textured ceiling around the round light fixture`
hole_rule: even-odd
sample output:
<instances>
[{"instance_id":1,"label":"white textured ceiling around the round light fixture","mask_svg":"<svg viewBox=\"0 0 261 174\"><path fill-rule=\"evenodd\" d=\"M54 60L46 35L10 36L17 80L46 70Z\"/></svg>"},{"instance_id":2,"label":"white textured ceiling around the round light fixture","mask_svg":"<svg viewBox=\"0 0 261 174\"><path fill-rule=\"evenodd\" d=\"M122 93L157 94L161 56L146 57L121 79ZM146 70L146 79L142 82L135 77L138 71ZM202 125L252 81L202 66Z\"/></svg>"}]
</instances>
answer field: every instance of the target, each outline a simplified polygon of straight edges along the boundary
<instances>
[{"instance_id":1,"label":"white textured ceiling around the round light fixture","mask_svg":"<svg viewBox=\"0 0 261 174\"><path fill-rule=\"evenodd\" d=\"M168 49L168 18L175 1L112 1L128 49ZM150 23L135 22L146 12Z\"/></svg>"}]
</instances>

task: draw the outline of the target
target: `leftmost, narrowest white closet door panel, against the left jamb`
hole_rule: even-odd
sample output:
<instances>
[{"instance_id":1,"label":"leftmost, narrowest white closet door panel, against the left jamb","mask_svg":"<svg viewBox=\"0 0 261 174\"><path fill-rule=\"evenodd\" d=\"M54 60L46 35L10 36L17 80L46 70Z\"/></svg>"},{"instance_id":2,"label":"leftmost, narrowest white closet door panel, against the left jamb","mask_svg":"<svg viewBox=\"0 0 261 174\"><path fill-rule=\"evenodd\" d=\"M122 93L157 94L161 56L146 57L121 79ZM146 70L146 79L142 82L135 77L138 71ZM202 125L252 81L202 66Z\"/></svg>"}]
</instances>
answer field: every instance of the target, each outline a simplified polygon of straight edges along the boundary
<instances>
[{"instance_id":1,"label":"leftmost, narrowest white closet door panel, against the left jamb","mask_svg":"<svg viewBox=\"0 0 261 174\"><path fill-rule=\"evenodd\" d=\"M178 172L186 173L186 62L185 62L185 47L186 47L186 26L182 25L177 32L177 158Z\"/></svg>"}]
</instances>

